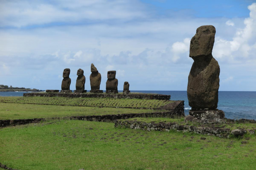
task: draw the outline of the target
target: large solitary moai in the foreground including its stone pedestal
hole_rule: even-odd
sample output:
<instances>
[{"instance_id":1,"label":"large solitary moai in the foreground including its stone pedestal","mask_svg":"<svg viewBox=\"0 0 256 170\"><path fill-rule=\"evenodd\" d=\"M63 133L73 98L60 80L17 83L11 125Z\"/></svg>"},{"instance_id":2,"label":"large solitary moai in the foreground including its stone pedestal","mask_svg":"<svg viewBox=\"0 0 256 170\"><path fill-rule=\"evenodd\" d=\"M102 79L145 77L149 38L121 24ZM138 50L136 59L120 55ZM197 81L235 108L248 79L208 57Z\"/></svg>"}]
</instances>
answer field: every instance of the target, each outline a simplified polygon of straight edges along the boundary
<instances>
[{"instance_id":1,"label":"large solitary moai in the foreground including its stone pedestal","mask_svg":"<svg viewBox=\"0 0 256 170\"><path fill-rule=\"evenodd\" d=\"M200 26L190 41L189 57L194 60L188 76L189 114L198 119L224 118L217 109L220 66L212 56L214 26ZM206 116L208 115L208 116Z\"/></svg>"}]
</instances>

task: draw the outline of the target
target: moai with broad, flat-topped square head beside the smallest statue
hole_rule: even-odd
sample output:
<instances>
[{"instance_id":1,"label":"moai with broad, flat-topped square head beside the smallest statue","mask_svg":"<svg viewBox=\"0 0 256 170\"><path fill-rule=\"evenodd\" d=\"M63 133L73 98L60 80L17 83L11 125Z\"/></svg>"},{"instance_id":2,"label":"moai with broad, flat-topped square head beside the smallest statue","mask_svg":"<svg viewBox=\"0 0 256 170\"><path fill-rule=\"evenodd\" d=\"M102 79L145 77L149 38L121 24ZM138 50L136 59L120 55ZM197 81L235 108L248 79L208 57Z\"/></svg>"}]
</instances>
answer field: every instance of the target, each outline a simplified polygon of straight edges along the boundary
<instances>
[{"instance_id":1,"label":"moai with broad, flat-topped square head beside the smallest statue","mask_svg":"<svg viewBox=\"0 0 256 170\"><path fill-rule=\"evenodd\" d=\"M116 79L116 71L108 71L108 80L106 82L106 93L118 93L118 80Z\"/></svg>"}]
</instances>

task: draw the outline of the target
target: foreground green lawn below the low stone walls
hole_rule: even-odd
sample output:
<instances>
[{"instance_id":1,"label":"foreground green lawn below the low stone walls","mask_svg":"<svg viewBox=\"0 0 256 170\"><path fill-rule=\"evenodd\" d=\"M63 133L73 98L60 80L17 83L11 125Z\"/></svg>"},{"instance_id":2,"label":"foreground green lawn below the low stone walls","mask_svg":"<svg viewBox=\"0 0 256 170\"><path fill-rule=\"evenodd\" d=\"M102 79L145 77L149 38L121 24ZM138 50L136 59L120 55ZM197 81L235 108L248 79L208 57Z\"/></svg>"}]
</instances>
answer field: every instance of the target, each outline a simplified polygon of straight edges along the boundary
<instances>
[{"instance_id":1,"label":"foreground green lawn below the low stone walls","mask_svg":"<svg viewBox=\"0 0 256 170\"><path fill-rule=\"evenodd\" d=\"M0 129L0 161L22 170L255 169L255 135L244 145L203 136L55 120Z\"/></svg>"}]
</instances>

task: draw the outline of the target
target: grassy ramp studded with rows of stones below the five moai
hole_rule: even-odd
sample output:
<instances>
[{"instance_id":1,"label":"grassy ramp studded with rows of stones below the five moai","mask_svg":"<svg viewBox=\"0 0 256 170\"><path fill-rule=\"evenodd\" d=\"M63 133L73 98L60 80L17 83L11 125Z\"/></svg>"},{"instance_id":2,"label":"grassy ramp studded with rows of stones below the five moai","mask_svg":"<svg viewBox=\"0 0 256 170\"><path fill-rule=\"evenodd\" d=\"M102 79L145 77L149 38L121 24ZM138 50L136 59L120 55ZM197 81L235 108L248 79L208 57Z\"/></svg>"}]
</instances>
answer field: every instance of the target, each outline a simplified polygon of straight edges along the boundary
<instances>
[{"instance_id":1,"label":"grassy ramp studded with rows of stones below the five moai","mask_svg":"<svg viewBox=\"0 0 256 170\"><path fill-rule=\"evenodd\" d=\"M34 104L51 104L51 105L75 105L75 106L158 108L168 103L171 103L173 101L141 100L141 99L112 99L112 98L0 97L0 102L34 103Z\"/></svg>"}]
</instances>

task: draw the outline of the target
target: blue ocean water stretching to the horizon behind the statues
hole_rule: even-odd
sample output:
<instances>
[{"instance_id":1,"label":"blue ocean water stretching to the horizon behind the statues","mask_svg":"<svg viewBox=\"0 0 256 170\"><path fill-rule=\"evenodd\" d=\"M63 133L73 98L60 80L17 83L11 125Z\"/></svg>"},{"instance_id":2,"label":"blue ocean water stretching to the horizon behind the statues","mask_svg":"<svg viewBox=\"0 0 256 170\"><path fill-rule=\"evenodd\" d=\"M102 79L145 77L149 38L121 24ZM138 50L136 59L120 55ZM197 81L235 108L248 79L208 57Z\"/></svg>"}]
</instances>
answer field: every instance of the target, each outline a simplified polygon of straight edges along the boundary
<instances>
[{"instance_id":1,"label":"blue ocean water stretching to the horizon behind the statues","mask_svg":"<svg viewBox=\"0 0 256 170\"><path fill-rule=\"evenodd\" d=\"M120 91L122 92L122 91ZM184 100L185 115L188 115L187 91L131 91L142 93L157 93L171 95L171 100ZM23 96L29 92L0 92L0 96ZM256 92L225 92L219 91L218 109L225 112L229 119L255 119L256 120Z\"/></svg>"}]
</instances>

